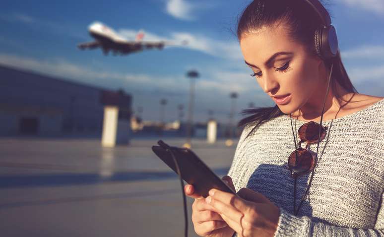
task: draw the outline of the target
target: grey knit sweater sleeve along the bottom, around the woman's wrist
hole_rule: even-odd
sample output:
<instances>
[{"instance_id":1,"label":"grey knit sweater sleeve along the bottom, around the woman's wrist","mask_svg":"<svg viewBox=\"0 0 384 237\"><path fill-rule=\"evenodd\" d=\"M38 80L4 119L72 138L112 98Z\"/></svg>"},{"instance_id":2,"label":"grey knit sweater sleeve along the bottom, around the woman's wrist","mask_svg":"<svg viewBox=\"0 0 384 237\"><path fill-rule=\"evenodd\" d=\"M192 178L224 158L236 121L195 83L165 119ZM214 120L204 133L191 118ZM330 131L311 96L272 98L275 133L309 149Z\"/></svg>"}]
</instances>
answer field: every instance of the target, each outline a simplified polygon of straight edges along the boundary
<instances>
[{"instance_id":1,"label":"grey knit sweater sleeve along the bottom, around the woman's wrist","mask_svg":"<svg viewBox=\"0 0 384 237\"><path fill-rule=\"evenodd\" d=\"M274 237L384 237L383 216L384 210L380 207L375 229L354 229L314 222L307 216L296 217L280 208Z\"/></svg>"}]
</instances>

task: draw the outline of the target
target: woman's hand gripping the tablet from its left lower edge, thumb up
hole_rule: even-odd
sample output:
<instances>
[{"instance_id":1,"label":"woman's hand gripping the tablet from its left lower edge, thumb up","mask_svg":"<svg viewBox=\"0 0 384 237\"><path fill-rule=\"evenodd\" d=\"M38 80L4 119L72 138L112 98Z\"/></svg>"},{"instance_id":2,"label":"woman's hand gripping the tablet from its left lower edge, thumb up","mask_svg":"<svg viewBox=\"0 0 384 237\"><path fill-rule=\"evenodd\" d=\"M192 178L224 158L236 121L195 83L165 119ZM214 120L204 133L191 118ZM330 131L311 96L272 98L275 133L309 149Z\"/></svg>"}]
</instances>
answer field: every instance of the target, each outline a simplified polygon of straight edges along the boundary
<instances>
[{"instance_id":1,"label":"woman's hand gripping the tablet from its left lower edge, thumb up","mask_svg":"<svg viewBox=\"0 0 384 237\"><path fill-rule=\"evenodd\" d=\"M235 190L229 176L222 178ZM231 237L235 231L225 223L215 209L205 202L205 199L194 193L193 185L184 187L187 196L194 198L192 204L192 223L194 231L201 237Z\"/></svg>"}]
</instances>

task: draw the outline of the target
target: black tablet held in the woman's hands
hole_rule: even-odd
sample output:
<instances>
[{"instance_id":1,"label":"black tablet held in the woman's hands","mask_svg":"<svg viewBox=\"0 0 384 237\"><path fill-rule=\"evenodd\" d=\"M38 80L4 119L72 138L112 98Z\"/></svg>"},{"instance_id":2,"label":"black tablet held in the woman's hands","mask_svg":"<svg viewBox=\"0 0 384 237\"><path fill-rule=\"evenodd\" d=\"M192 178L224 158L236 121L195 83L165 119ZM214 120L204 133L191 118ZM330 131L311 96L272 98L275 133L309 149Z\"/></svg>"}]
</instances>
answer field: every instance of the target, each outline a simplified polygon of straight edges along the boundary
<instances>
[{"instance_id":1,"label":"black tablet held in the woman's hands","mask_svg":"<svg viewBox=\"0 0 384 237\"><path fill-rule=\"evenodd\" d=\"M167 164L176 174L177 168L169 150L172 150L179 165L181 177L189 184L192 184L195 193L207 197L211 188L216 188L224 192L233 191L221 178L219 178L209 167L188 148L169 146L159 140L160 146L152 146L152 151Z\"/></svg>"}]
</instances>

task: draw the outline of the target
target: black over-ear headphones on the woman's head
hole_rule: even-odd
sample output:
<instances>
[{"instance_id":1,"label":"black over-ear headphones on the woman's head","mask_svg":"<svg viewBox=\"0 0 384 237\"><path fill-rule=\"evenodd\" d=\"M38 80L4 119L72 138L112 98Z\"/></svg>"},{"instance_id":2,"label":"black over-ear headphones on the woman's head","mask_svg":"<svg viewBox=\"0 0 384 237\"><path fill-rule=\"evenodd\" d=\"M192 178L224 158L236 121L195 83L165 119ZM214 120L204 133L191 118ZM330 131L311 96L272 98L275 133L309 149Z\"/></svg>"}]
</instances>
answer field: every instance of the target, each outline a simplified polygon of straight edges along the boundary
<instances>
[{"instance_id":1,"label":"black over-ear headphones on the woman's head","mask_svg":"<svg viewBox=\"0 0 384 237\"><path fill-rule=\"evenodd\" d=\"M317 12L322 21L322 26L315 31L315 49L323 60L336 57L339 50L336 29L331 25L331 18L319 0L305 0Z\"/></svg>"}]
</instances>

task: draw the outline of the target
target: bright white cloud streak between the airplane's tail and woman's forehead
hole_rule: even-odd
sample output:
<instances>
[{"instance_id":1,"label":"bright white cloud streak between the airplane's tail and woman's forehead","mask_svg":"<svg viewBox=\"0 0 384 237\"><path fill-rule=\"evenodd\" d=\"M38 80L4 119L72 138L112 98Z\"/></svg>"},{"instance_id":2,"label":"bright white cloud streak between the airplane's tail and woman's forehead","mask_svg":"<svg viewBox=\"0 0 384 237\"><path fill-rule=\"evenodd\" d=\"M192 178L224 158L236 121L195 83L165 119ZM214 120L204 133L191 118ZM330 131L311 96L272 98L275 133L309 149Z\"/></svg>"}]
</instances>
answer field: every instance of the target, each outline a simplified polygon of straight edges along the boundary
<instances>
[{"instance_id":1,"label":"bright white cloud streak between the airplane's tail and woman's forehead","mask_svg":"<svg viewBox=\"0 0 384 237\"><path fill-rule=\"evenodd\" d=\"M120 29L118 34L128 40L133 40L137 32L137 30L133 29ZM216 40L201 34L192 34L188 32L172 32L168 37L159 36L150 32L143 32L145 34L144 41L166 41L170 43L168 47L182 47L196 50L223 59L243 59L237 41ZM181 44L184 40L188 42L187 45Z\"/></svg>"}]
</instances>

